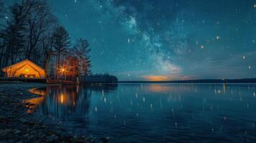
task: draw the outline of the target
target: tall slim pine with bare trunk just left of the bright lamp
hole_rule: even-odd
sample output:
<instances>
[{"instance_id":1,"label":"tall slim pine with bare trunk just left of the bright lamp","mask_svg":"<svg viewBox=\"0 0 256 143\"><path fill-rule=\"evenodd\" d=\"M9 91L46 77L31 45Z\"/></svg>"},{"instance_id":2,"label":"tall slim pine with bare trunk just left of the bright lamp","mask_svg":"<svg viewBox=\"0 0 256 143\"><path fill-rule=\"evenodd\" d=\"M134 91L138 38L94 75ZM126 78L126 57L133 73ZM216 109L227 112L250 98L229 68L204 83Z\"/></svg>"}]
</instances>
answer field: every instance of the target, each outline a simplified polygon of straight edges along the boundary
<instances>
[{"instance_id":1,"label":"tall slim pine with bare trunk just left of the bright lamp","mask_svg":"<svg viewBox=\"0 0 256 143\"><path fill-rule=\"evenodd\" d=\"M63 26L59 26L54 32L53 46L56 52L55 79L59 80L60 56L67 53L70 46L70 36Z\"/></svg>"}]
</instances>

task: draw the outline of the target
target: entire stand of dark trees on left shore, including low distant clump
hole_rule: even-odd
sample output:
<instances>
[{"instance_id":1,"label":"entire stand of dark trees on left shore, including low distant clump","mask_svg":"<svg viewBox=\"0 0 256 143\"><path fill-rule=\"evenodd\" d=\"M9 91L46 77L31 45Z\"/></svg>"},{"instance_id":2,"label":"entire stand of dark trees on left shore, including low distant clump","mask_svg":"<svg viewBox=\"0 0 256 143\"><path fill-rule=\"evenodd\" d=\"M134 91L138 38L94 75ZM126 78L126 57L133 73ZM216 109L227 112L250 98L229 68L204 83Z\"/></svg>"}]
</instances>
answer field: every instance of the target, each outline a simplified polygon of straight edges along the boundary
<instances>
[{"instance_id":1,"label":"entire stand of dark trees on left shore, including low distant clump","mask_svg":"<svg viewBox=\"0 0 256 143\"><path fill-rule=\"evenodd\" d=\"M91 74L88 41L78 39L70 49L70 36L65 27L58 24L47 1L16 1L9 9L8 19L3 8L0 0L0 68L30 59L42 66L50 79L57 81L118 82L110 74Z\"/></svg>"}]
</instances>

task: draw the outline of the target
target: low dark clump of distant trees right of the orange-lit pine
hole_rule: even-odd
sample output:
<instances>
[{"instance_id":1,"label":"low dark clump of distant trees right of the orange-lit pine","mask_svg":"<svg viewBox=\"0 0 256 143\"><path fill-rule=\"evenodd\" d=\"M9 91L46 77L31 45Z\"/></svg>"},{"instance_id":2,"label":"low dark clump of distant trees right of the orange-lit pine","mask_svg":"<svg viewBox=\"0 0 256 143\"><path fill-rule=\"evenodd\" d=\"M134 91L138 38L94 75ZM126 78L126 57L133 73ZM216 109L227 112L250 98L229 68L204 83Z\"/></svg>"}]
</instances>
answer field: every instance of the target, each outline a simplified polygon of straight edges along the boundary
<instances>
[{"instance_id":1,"label":"low dark clump of distant trees right of the orange-lit pine","mask_svg":"<svg viewBox=\"0 0 256 143\"><path fill-rule=\"evenodd\" d=\"M90 74L82 77L85 83L117 83L118 78L110 74Z\"/></svg>"}]
</instances>

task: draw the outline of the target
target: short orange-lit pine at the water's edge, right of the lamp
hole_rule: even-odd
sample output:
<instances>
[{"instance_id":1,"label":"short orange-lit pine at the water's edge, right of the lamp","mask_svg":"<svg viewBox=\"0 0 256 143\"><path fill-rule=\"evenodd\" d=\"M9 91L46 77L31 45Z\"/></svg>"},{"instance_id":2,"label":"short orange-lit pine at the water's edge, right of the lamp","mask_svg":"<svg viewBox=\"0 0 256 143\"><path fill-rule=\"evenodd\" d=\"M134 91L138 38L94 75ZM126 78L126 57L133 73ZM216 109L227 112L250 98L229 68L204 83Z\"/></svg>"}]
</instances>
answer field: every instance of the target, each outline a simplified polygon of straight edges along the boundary
<instances>
[{"instance_id":1,"label":"short orange-lit pine at the water's edge, right of the lamp","mask_svg":"<svg viewBox=\"0 0 256 143\"><path fill-rule=\"evenodd\" d=\"M78 59L78 67L80 68L80 75L86 75L90 73L90 66L92 66L90 61L90 52L88 41L85 39L77 40L77 43L73 47L73 52Z\"/></svg>"}]
</instances>

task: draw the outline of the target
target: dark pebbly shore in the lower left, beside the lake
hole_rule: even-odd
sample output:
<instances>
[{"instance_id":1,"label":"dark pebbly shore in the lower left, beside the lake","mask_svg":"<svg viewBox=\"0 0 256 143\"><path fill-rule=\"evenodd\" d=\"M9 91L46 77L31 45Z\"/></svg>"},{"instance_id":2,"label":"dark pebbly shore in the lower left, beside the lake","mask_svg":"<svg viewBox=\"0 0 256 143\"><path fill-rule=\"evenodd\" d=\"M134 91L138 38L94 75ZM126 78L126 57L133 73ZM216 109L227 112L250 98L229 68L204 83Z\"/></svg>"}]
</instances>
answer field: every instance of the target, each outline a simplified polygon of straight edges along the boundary
<instances>
[{"instance_id":1,"label":"dark pebbly shore in the lower left, beside the lake","mask_svg":"<svg viewBox=\"0 0 256 143\"><path fill-rule=\"evenodd\" d=\"M30 103L25 99L39 97L29 89L47 84L0 83L0 142L109 142L109 137L95 138L89 134L72 134L51 117L27 113Z\"/></svg>"}]
</instances>

